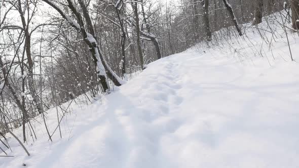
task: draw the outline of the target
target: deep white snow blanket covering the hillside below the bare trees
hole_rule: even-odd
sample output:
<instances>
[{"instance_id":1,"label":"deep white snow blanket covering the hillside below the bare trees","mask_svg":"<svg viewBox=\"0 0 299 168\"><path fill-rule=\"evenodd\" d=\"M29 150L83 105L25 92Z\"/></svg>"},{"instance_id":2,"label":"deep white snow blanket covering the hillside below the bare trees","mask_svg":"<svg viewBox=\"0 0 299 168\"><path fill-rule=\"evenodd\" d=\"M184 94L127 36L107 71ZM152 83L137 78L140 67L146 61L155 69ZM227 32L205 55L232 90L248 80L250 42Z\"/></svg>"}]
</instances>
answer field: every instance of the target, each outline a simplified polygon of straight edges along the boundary
<instances>
[{"instance_id":1,"label":"deep white snow blanket covering the hillside below the bare trees","mask_svg":"<svg viewBox=\"0 0 299 168\"><path fill-rule=\"evenodd\" d=\"M287 33L299 60L298 35ZM14 157L0 157L0 167L298 167L299 64L282 29L271 45L261 36L272 35L250 28L244 38L197 46L149 64L90 105L72 102L62 139L57 129L48 141L42 118L32 120L31 155L9 138ZM54 108L51 134L57 123Z\"/></svg>"}]
</instances>

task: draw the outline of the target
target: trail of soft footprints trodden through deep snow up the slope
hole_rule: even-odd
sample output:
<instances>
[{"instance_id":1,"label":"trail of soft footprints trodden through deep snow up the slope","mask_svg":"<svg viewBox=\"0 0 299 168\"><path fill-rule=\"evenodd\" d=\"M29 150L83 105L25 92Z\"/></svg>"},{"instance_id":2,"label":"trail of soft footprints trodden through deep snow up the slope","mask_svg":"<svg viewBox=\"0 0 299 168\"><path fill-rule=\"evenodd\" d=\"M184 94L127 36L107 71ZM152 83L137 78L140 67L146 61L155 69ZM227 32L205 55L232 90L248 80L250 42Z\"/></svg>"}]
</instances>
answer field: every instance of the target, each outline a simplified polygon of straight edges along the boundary
<instances>
[{"instance_id":1,"label":"trail of soft footprints trodden through deep snow up the slope","mask_svg":"<svg viewBox=\"0 0 299 168\"><path fill-rule=\"evenodd\" d=\"M137 101L134 102L138 103L134 107L137 108L136 112L130 113L131 110L126 109L127 115L123 112L117 114L117 120L125 128L124 135L131 135L128 141L138 144L133 145L130 150L144 149L148 152L147 158L154 159L157 153L163 153L161 139L176 132L184 123L176 115L181 111L183 102L180 97L183 88L179 74L175 74L178 68L176 66L168 62L161 65L160 74L146 74L140 94L135 97Z\"/></svg>"}]
</instances>

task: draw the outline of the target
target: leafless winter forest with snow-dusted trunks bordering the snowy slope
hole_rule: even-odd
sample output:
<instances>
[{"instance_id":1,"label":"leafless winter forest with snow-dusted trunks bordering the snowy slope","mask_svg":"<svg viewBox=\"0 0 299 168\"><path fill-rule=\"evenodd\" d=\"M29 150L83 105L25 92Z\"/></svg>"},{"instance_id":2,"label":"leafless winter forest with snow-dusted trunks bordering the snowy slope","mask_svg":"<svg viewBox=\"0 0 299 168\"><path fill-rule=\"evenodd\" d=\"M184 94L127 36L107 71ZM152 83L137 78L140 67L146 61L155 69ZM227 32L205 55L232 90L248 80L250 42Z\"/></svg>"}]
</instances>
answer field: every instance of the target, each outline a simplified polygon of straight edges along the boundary
<instances>
[{"instance_id":1,"label":"leafless winter forest with snow-dusted trunks bordering the snowy slope","mask_svg":"<svg viewBox=\"0 0 299 168\"><path fill-rule=\"evenodd\" d=\"M286 37L283 55L292 64L298 29L299 0L0 0L0 156L10 155L10 141L29 156L40 130L48 142L67 137L61 124L73 104L109 97L149 65L190 49L206 54L220 47L239 60L245 56L237 47L245 50L246 42L252 57L272 64L272 44ZM251 42L251 30L261 47ZM111 106L119 102L126 98Z\"/></svg>"}]
</instances>

